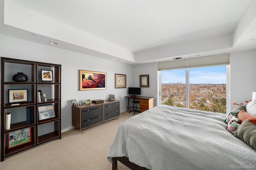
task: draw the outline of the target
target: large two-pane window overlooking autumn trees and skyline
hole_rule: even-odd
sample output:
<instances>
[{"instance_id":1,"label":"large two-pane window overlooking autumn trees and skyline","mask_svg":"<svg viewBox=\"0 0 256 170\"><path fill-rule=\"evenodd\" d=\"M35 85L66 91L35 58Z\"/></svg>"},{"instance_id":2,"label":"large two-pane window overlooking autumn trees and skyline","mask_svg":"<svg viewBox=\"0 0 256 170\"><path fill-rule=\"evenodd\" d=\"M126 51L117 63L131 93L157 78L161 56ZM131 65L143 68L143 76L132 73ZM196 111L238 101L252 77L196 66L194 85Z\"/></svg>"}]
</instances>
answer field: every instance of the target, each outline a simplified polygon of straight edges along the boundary
<instances>
[{"instance_id":1,"label":"large two-pane window overlooking autumn trees and skyline","mask_svg":"<svg viewBox=\"0 0 256 170\"><path fill-rule=\"evenodd\" d=\"M178 69L177 65L179 63L184 65L184 62L186 62L186 68ZM174 69L159 70L159 81L161 82L161 102L159 104L218 113L229 112L230 105L228 104L227 107L227 103L229 103L228 64L188 67L188 63L196 65L198 63L186 60L177 63L171 63L175 65ZM164 67L166 67L166 63L164 63Z\"/></svg>"}]
</instances>

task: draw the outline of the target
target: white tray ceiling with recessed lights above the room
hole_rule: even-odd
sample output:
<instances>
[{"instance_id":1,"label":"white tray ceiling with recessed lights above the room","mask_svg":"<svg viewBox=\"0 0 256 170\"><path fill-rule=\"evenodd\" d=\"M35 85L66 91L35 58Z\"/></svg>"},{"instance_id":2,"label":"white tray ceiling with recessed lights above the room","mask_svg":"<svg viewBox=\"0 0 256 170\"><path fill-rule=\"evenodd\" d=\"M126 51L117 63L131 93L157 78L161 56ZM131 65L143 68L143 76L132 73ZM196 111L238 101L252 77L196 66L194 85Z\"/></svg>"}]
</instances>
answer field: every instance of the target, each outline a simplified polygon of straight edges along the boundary
<instances>
[{"instance_id":1,"label":"white tray ceiling with recessed lights above the room","mask_svg":"<svg viewBox=\"0 0 256 170\"><path fill-rule=\"evenodd\" d=\"M54 41L59 43L54 47L132 65L256 49L251 40L256 6L250 7L255 0L8 0L1 5L1 34L51 46ZM211 47L204 47L206 42Z\"/></svg>"}]
</instances>

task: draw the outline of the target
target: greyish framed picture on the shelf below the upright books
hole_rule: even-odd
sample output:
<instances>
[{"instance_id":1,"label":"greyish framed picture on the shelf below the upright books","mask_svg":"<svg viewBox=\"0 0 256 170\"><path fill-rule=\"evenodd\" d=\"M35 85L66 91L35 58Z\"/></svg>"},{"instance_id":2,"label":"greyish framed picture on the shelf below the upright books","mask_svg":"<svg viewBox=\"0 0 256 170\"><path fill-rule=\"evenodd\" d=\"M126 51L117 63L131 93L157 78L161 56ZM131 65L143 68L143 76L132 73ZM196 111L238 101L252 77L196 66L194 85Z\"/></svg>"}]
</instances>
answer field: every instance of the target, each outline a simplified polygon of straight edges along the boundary
<instances>
[{"instance_id":1,"label":"greyish framed picture on the shelf below the upright books","mask_svg":"<svg viewBox=\"0 0 256 170\"><path fill-rule=\"evenodd\" d=\"M55 117L54 105L38 106L38 119L50 119Z\"/></svg>"}]
</instances>

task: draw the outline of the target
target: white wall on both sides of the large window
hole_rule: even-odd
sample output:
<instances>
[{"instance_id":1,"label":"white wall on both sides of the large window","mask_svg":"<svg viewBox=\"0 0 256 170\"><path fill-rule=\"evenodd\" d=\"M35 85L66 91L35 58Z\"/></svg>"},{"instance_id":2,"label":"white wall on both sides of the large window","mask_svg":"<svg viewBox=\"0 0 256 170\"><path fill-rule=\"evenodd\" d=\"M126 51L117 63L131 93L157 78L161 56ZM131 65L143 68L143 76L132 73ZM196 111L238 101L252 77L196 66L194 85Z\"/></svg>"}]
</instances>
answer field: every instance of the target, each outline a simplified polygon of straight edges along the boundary
<instances>
[{"instance_id":1,"label":"white wall on both sides of the large window","mask_svg":"<svg viewBox=\"0 0 256 170\"><path fill-rule=\"evenodd\" d=\"M252 99L256 91L256 50L230 53L230 109L236 106L233 102L244 103ZM142 87L142 96L158 97L157 63L136 65L133 67L133 86L140 87L139 75L149 74L149 87Z\"/></svg>"}]
</instances>

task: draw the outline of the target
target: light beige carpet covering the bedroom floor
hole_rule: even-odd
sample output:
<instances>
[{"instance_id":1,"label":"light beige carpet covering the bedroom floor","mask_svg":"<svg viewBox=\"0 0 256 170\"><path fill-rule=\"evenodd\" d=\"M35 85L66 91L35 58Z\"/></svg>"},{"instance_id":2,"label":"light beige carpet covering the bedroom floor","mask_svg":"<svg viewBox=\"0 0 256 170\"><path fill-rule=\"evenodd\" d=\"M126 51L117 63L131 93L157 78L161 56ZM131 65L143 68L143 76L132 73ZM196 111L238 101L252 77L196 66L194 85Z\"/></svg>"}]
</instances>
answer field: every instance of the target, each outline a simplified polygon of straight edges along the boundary
<instances>
[{"instance_id":1,"label":"light beige carpet covering the bedroom floor","mask_svg":"<svg viewBox=\"0 0 256 170\"><path fill-rule=\"evenodd\" d=\"M133 113L120 113L112 119L84 130L72 129L53 140L9 156L0 162L1 170L111 170L109 148L119 125ZM118 162L118 170L130 170Z\"/></svg>"}]
</instances>

